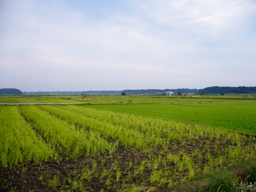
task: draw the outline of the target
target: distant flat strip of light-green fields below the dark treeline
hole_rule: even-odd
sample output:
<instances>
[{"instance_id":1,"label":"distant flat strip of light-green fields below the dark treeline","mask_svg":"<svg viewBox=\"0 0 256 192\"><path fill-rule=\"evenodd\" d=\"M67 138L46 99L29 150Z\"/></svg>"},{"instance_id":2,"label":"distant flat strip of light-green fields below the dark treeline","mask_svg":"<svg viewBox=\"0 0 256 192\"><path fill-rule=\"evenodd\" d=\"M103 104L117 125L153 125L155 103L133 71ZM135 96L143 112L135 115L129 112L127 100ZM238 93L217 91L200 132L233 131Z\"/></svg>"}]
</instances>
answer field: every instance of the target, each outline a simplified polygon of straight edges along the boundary
<instances>
[{"instance_id":1,"label":"distant flat strip of light-green fields below the dark treeline","mask_svg":"<svg viewBox=\"0 0 256 192\"><path fill-rule=\"evenodd\" d=\"M252 95L187 95L187 96L139 96L139 95L22 95L7 97L1 95L0 103L176 103L176 102L230 102L230 101L256 101Z\"/></svg>"}]
</instances>

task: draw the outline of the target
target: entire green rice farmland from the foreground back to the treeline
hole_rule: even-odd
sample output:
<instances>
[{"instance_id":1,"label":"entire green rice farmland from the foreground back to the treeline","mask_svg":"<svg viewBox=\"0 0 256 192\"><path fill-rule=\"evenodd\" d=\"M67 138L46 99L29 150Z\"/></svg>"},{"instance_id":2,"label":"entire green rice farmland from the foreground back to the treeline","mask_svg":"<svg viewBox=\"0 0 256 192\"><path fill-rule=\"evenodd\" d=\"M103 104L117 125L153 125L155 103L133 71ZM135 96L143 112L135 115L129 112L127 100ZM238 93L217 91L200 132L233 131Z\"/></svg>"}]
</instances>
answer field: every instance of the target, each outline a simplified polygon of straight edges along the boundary
<instances>
[{"instance_id":1,"label":"entire green rice farmland from the foreground back to the treeline","mask_svg":"<svg viewBox=\"0 0 256 192\"><path fill-rule=\"evenodd\" d=\"M0 191L234 191L256 181L256 100L224 96L1 96L80 105L0 106Z\"/></svg>"}]
</instances>

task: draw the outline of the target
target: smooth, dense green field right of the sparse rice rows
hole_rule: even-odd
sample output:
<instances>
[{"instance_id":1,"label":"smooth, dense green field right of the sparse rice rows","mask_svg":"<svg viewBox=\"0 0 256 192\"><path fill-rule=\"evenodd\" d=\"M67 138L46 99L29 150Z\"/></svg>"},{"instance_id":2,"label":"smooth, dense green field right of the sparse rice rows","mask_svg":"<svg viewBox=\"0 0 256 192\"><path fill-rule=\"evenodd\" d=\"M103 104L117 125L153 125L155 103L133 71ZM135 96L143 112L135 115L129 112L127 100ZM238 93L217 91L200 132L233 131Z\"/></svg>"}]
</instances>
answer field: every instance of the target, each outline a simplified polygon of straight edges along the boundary
<instances>
[{"instance_id":1,"label":"smooth, dense green field right of the sparse rice rows","mask_svg":"<svg viewBox=\"0 0 256 192\"><path fill-rule=\"evenodd\" d=\"M90 105L85 107L209 125L220 129L256 134L256 103Z\"/></svg>"}]
</instances>

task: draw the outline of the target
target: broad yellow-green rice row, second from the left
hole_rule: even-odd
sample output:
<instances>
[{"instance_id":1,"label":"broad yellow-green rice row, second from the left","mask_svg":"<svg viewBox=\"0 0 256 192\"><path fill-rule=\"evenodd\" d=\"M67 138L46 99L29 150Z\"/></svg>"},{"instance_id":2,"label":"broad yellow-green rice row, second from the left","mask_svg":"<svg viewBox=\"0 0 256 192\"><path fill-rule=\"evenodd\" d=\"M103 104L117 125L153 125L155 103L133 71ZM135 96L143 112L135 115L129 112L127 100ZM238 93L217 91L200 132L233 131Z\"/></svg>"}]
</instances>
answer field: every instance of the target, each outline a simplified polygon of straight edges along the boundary
<instances>
[{"instance_id":1,"label":"broad yellow-green rice row, second from the left","mask_svg":"<svg viewBox=\"0 0 256 192\"><path fill-rule=\"evenodd\" d=\"M77 157L85 152L95 154L114 148L114 144L108 143L93 130L77 130L75 125L61 121L35 106L21 106L20 109L22 115L46 142L51 143L60 153Z\"/></svg>"}]
</instances>

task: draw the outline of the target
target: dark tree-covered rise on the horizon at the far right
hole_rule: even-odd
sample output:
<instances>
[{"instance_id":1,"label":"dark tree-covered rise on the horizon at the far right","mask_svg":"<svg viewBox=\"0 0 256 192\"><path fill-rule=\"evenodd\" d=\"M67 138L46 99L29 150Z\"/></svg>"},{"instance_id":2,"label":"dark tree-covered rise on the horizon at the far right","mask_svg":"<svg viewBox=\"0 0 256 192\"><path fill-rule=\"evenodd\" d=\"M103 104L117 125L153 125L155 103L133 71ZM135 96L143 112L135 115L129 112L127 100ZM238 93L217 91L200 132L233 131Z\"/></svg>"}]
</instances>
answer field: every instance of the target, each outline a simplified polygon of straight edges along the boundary
<instances>
[{"instance_id":1,"label":"dark tree-covered rise on the horizon at the far right","mask_svg":"<svg viewBox=\"0 0 256 192\"><path fill-rule=\"evenodd\" d=\"M199 90L198 93L200 94L228 94L228 93L255 93L256 87L245 87L245 86L239 86L239 87L220 87L220 86L212 86L212 87L206 87L204 89Z\"/></svg>"}]
</instances>

